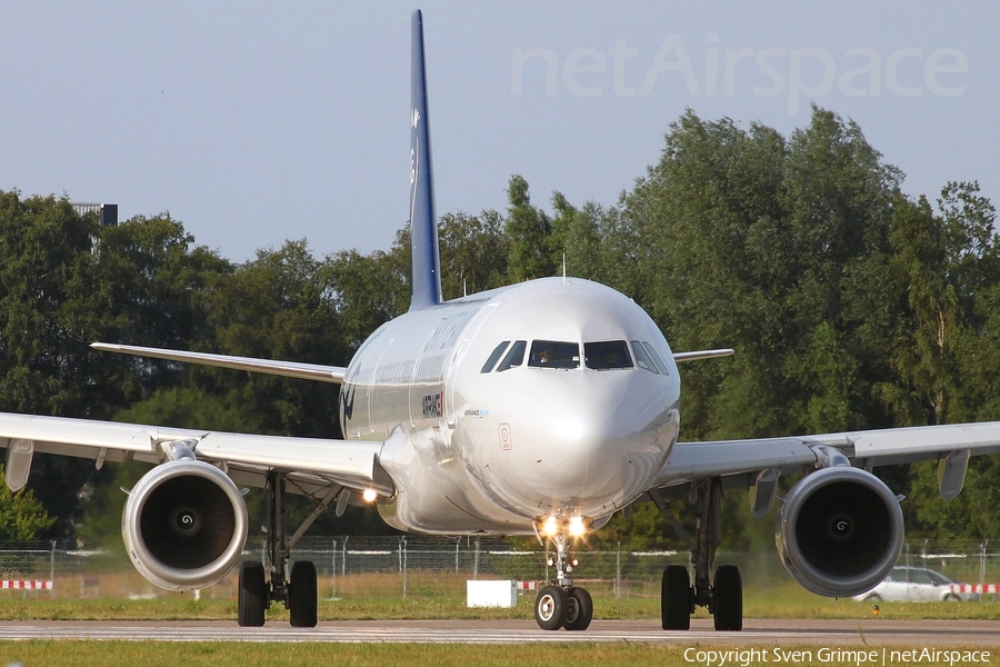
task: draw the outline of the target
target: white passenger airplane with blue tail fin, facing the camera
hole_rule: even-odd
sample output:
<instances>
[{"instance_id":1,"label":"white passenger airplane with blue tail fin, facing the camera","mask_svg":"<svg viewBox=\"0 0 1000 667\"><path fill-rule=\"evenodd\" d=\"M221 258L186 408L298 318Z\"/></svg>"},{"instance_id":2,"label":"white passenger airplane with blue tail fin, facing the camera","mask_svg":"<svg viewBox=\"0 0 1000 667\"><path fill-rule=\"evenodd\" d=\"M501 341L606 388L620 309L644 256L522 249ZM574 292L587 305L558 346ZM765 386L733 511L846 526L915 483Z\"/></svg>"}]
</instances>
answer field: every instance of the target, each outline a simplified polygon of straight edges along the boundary
<instances>
[{"instance_id":1,"label":"white passenger airplane with blue tail fin, facing the camera","mask_svg":"<svg viewBox=\"0 0 1000 667\"><path fill-rule=\"evenodd\" d=\"M573 547L618 511L652 501L694 502L691 570L668 566L663 629L688 629L696 606L717 630L742 628L742 578L716 566L723 490L749 491L754 516L778 499L781 476L804 474L781 498L779 556L804 588L830 597L867 591L903 544L898 497L877 466L939 461L939 491L956 497L972 455L1000 452L1000 422L767 439L679 440L678 365L731 349L673 352L627 296L554 277L444 301L431 172L423 19L412 16L409 310L386 322L347 367L96 342L92 347L174 361L341 385L343 440L227 434L0 414L12 490L36 451L158 464L129 496L122 537L134 567L174 590L221 579L248 536L242 487L267 489L267 566L239 569L238 623L261 626L271 603L292 626L317 624L317 570L290 550L320 512L377 504L401 530L528 535L550 542L556 576L537 596L546 630L584 630L593 600L573 583ZM724 362L724 361L722 361ZM286 495L316 510L293 532ZM291 535L289 535L291 532Z\"/></svg>"}]
</instances>

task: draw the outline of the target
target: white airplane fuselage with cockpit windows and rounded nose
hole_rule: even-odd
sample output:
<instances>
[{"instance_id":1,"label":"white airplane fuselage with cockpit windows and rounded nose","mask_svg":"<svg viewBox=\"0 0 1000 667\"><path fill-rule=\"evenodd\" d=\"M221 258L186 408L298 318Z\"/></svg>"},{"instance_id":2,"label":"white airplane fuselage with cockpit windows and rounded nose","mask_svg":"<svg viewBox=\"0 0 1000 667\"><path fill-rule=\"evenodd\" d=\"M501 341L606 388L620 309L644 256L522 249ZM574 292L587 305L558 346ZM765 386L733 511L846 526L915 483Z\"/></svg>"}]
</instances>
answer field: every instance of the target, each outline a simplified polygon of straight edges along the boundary
<instances>
[{"instance_id":1,"label":"white airplane fuselage with cockpit windows and rounded nose","mask_svg":"<svg viewBox=\"0 0 1000 667\"><path fill-rule=\"evenodd\" d=\"M351 360L340 415L346 438L386 441L397 492L379 508L397 528L597 527L667 465L680 380L631 299L549 278L387 322Z\"/></svg>"}]
</instances>

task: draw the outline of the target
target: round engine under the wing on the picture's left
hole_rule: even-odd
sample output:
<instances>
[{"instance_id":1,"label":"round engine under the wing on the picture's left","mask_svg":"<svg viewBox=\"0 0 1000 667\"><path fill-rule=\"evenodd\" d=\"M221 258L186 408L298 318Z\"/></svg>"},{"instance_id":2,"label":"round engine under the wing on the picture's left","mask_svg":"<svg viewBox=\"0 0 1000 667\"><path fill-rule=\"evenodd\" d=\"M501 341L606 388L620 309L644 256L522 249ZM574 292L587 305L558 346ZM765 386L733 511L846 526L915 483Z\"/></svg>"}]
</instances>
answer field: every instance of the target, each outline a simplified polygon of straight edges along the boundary
<instances>
[{"instance_id":1,"label":"round engine under the wing on the picture's left","mask_svg":"<svg viewBox=\"0 0 1000 667\"><path fill-rule=\"evenodd\" d=\"M147 472L121 516L136 569L171 590L203 588L224 577L240 558L247 529L247 505L236 484L194 459Z\"/></svg>"}]
</instances>

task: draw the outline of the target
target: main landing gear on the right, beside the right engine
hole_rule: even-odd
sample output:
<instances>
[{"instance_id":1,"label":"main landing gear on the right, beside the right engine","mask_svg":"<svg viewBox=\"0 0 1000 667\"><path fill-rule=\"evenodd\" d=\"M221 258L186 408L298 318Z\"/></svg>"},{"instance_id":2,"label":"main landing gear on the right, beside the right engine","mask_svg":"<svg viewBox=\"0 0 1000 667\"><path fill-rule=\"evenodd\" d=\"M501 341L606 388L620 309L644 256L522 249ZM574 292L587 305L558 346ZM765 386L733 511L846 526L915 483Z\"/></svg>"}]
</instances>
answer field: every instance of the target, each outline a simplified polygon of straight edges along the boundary
<instances>
[{"instance_id":1,"label":"main landing gear on the right, beside the right engine","mask_svg":"<svg viewBox=\"0 0 1000 667\"><path fill-rule=\"evenodd\" d=\"M719 478L707 481L693 490L698 515L694 541L691 542L680 522L670 511L668 504L657 492L651 494L661 511L673 521L678 535L691 548L691 565L694 568L694 585L682 565L671 565L663 570L660 589L660 611L664 630L687 630L691 627L694 607L708 607L717 630L743 629L743 581L734 565L716 568L714 581L709 574L716 560L716 549L722 541L722 481Z\"/></svg>"}]
</instances>

